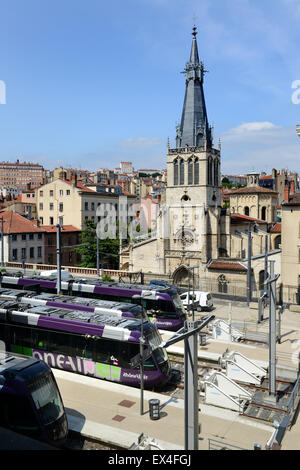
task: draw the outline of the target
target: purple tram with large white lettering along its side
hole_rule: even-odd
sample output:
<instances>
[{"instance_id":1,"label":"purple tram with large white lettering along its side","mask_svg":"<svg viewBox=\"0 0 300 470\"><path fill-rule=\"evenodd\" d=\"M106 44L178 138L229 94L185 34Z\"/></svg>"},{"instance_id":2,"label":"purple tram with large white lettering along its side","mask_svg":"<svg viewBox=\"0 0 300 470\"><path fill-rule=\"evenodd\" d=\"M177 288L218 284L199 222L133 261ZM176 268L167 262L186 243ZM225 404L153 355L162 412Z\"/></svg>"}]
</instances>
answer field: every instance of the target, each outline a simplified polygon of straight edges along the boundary
<instances>
[{"instance_id":1,"label":"purple tram with large white lettering along its side","mask_svg":"<svg viewBox=\"0 0 300 470\"><path fill-rule=\"evenodd\" d=\"M139 386L141 338L145 388L159 388L171 369L156 326L117 317L26 302L0 301L0 339L9 351L63 369Z\"/></svg>"}]
</instances>

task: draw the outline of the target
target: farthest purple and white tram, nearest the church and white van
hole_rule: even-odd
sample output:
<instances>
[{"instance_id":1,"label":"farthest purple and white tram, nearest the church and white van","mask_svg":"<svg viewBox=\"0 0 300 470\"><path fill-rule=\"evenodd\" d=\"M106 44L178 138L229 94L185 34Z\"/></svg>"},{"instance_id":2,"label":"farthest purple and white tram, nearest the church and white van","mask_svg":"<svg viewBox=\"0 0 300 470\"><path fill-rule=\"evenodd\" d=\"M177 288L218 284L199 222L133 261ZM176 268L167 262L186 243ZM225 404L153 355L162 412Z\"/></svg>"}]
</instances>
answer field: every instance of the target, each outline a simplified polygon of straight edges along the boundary
<instances>
[{"instance_id":1,"label":"farthest purple and white tram, nearest the church and white van","mask_svg":"<svg viewBox=\"0 0 300 470\"><path fill-rule=\"evenodd\" d=\"M57 293L57 279L39 276L4 274L1 287ZM159 329L177 331L184 326L186 313L176 288L164 288L143 284L104 282L99 279L71 279L61 281L61 292L69 296L88 297L142 305L148 316L156 317Z\"/></svg>"}]
</instances>

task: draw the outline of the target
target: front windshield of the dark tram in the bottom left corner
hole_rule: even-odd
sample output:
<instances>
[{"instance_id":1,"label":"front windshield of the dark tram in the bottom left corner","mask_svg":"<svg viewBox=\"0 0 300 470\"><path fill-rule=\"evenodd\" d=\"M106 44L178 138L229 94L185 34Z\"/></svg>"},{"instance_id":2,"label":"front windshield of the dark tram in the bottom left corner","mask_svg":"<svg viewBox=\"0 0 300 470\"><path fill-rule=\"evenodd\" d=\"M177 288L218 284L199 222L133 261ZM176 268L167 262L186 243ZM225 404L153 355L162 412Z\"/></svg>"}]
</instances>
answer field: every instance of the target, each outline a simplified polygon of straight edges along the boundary
<instances>
[{"instance_id":1,"label":"front windshield of the dark tram in the bottom left corner","mask_svg":"<svg viewBox=\"0 0 300 470\"><path fill-rule=\"evenodd\" d=\"M64 414L63 404L51 372L38 377L28 388L45 426Z\"/></svg>"}]
</instances>

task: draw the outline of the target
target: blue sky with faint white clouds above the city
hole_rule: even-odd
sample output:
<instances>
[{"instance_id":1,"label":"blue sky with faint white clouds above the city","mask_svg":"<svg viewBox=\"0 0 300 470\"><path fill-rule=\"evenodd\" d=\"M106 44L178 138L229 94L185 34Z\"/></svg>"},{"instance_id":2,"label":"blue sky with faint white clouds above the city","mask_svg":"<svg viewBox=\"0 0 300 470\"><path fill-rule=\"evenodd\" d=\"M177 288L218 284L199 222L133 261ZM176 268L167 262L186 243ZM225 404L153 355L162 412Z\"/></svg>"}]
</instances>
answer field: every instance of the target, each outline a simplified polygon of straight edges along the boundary
<instances>
[{"instance_id":1,"label":"blue sky with faint white clouds above the city","mask_svg":"<svg viewBox=\"0 0 300 470\"><path fill-rule=\"evenodd\" d=\"M0 5L1 160L166 167L195 23L222 172L300 172L300 0Z\"/></svg>"}]
</instances>

